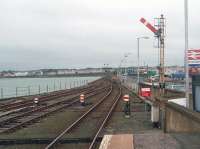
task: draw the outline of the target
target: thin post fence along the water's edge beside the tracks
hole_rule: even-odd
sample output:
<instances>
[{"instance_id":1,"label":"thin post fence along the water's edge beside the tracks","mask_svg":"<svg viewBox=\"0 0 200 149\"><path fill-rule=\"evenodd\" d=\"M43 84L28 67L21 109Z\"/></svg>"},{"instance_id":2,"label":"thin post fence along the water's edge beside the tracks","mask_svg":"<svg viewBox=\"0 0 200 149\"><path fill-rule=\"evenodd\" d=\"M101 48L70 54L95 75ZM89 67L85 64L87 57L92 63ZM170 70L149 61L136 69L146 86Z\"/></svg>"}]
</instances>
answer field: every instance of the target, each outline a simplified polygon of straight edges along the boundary
<instances>
[{"instance_id":1,"label":"thin post fence along the water's edge beside the tracks","mask_svg":"<svg viewBox=\"0 0 200 149\"><path fill-rule=\"evenodd\" d=\"M38 86L17 86L15 88L1 88L0 99L48 93L52 91L80 87L86 84L88 84L88 80L79 80L72 82L60 81L59 83L54 82L53 84L43 84Z\"/></svg>"}]
</instances>

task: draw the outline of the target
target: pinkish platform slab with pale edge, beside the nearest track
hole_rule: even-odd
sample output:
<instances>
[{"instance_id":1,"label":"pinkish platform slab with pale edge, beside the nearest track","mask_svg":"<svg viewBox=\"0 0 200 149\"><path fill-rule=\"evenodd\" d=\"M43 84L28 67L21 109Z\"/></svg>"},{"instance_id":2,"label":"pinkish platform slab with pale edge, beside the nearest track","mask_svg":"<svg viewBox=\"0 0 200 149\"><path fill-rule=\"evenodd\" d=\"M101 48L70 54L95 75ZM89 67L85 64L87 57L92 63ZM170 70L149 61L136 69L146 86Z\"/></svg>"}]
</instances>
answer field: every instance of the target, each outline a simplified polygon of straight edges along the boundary
<instances>
[{"instance_id":1,"label":"pinkish platform slab with pale edge, beside the nearest track","mask_svg":"<svg viewBox=\"0 0 200 149\"><path fill-rule=\"evenodd\" d=\"M104 135L99 149L134 149L132 134Z\"/></svg>"}]
</instances>

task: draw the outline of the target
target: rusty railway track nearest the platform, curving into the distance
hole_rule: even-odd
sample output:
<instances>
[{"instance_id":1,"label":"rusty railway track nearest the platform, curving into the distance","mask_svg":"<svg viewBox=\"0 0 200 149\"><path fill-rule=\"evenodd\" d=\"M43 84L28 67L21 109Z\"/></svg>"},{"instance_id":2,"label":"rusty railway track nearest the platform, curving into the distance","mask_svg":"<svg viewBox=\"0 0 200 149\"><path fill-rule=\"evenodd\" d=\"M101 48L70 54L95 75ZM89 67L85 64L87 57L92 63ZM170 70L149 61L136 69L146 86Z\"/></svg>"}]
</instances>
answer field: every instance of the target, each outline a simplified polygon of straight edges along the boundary
<instances>
[{"instance_id":1,"label":"rusty railway track nearest the platform, curving into the distance","mask_svg":"<svg viewBox=\"0 0 200 149\"><path fill-rule=\"evenodd\" d=\"M88 146L89 149L94 148L96 146L96 141L99 134L102 132L105 124L108 122L121 97L121 93L121 87L114 83L104 97L102 97L88 111L86 111L70 126L57 135L57 137L50 144L48 144L45 149L50 149L53 147L59 148L58 145L61 144L58 143L62 138L72 136L80 137L82 134L85 135L86 133L88 133L90 138L92 138L91 144ZM91 125L91 123L93 124Z\"/></svg>"}]
</instances>

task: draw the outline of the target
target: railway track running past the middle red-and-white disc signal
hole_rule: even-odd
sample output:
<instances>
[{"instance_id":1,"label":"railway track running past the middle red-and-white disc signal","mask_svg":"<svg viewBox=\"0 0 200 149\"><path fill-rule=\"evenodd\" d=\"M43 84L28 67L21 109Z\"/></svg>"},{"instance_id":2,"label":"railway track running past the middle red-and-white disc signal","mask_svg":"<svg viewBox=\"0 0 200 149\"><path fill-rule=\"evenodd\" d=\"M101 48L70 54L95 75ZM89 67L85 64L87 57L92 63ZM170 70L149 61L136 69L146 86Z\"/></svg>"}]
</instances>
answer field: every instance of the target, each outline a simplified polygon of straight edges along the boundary
<instances>
[{"instance_id":1,"label":"railway track running past the middle red-and-white disc signal","mask_svg":"<svg viewBox=\"0 0 200 149\"><path fill-rule=\"evenodd\" d=\"M101 88L96 88L93 90L90 89L84 93L86 95L86 98L90 98L99 93L102 93L103 91L107 89L108 87L101 87ZM47 115L60 111L66 107L70 107L73 104L79 102L79 95L80 93L70 99L56 101L52 104L44 105L44 106L42 105L40 107L38 106L32 107L32 108L29 108L28 111L21 110L19 112L11 113L10 115L6 115L5 117L1 117L0 133L14 131L28 124L32 124L33 122Z\"/></svg>"}]
</instances>

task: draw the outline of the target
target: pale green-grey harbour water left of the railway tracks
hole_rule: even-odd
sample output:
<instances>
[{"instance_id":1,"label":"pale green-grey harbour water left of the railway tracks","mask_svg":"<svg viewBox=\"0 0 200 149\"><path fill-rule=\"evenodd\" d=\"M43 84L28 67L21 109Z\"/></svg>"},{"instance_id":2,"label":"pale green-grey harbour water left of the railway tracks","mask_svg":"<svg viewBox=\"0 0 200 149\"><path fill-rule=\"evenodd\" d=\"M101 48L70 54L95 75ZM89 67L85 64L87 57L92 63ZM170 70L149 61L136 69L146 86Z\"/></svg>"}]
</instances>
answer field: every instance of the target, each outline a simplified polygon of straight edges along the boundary
<instances>
[{"instance_id":1,"label":"pale green-grey harbour water left of the railway tracks","mask_svg":"<svg viewBox=\"0 0 200 149\"><path fill-rule=\"evenodd\" d=\"M85 85L100 77L1 78L0 99Z\"/></svg>"}]
</instances>

